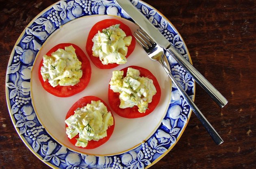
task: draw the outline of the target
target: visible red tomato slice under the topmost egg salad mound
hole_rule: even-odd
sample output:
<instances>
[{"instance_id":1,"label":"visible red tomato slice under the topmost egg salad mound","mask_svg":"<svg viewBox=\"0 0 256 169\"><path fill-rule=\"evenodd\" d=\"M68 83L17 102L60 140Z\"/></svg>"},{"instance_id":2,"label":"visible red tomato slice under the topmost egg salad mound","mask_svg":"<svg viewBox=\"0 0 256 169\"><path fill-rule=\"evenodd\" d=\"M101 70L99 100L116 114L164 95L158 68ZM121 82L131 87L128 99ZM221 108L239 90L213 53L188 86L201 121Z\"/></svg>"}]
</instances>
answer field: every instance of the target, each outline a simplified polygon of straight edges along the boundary
<instances>
[{"instance_id":1,"label":"visible red tomato slice under the topmost egg salad mound","mask_svg":"<svg viewBox=\"0 0 256 169\"><path fill-rule=\"evenodd\" d=\"M98 31L102 31L103 29L106 29L107 27L110 27L115 24L120 24L120 28L126 33L126 36L132 36L132 42L131 42L130 46L128 46L128 53L126 55L126 58L129 57L129 55L135 49L136 41L135 41L134 36L132 35L132 31L130 30L130 28L127 25L125 25L121 21L119 21L117 19L104 19L102 21L95 23L95 25L93 25L93 27L91 28L88 38L87 38L86 51L87 51L87 54L89 55L91 61L100 69L115 68L118 66L118 64L117 63L109 63L107 65L103 65L101 63L99 57L94 57L92 55L92 50L91 50L93 47L92 39L95 36L95 34L98 33Z\"/></svg>"}]
</instances>

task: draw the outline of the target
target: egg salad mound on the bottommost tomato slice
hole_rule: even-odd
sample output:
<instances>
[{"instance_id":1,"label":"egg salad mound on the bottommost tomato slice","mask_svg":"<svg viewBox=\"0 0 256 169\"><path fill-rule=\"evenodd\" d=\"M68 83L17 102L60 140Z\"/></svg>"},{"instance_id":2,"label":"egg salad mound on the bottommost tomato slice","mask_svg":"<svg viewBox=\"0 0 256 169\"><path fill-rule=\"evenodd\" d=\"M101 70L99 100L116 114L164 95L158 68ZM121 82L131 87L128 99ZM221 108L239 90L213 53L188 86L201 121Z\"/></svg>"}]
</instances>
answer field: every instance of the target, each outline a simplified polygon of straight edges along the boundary
<instances>
[{"instance_id":1,"label":"egg salad mound on the bottommost tomato slice","mask_svg":"<svg viewBox=\"0 0 256 169\"><path fill-rule=\"evenodd\" d=\"M67 136L72 139L79 135L75 146L86 147L90 140L98 141L107 136L107 129L114 124L111 112L99 101L91 101L74 111L74 115L65 120Z\"/></svg>"}]
</instances>

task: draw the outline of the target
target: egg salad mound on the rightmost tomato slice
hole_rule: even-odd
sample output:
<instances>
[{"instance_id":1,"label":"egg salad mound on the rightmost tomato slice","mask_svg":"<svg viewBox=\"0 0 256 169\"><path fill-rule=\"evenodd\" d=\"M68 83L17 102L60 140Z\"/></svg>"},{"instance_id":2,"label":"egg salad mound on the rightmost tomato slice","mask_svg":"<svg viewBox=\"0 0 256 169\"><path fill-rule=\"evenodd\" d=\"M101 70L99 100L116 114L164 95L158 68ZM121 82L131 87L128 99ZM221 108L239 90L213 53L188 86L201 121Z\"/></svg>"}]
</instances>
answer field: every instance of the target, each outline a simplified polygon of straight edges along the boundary
<instances>
[{"instance_id":1,"label":"egg salad mound on the rightmost tomato slice","mask_svg":"<svg viewBox=\"0 0 256 169\"><path fill-rule=\"evenodd\" d=\"M112 72L109 85L115 93L120 93L119 108L138 106L140 113L145 113L148 109L148 103L152 102L152 97L156 94L156 88L152 79L139 75L139 70L133 68L128 68L126 77L124 77L124 71Z\"/></svg>"}]
</instances>

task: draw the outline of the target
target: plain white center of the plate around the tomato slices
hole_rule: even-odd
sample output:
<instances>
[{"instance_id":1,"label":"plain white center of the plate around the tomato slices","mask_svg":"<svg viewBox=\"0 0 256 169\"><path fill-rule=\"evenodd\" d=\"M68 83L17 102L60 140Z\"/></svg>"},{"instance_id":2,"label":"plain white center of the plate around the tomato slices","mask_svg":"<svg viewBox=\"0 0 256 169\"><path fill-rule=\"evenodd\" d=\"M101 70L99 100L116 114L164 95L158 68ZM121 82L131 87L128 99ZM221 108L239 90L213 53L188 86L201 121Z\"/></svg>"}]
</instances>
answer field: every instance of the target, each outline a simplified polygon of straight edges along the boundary
<instances>
[{"instance_id":1,"label":"plain white center of the plate around the tomato slices","mask_svg":"<svg viewBox=\"0 0 256 169\"><path fill-rule=\"evenodd\" d=\"M32 71L31 95L33 107L40 123L46 131L60 144L76 152L95 155L120 154L135 148L143 140L148 139L161 124L167 112L171 94L171 81L163 70L160 63L149 59L142 47L137 43L135 50L128 57L128 62L119 65L111 70L101 70L91 62L92 74L89 85L86 89L72 97L55 97L46 92L38 79L38 66L43 58L53 46L59 43L73 43L78 45L85 53L87 36L91 27L103 19L119 19L130 27L132 31L137 29L134 23L119 17L108 15L95 15L81 17L70 21L56 30L43 44L39 51ZM87 53L86 53L87 54ZM89 57L88 57L89 58ZM71 144L65 133L65 116L69 108L81 97L94 95L100 97L108 104L108 82L111 79L113 70L121 70L129 65L138 65L146 68L156 76L161 87L161 99L156 109L148 116L142 118L128 119L114 114L115 129L111 138L102 146L86 150ZM109 106L109 104L108 104Z\"/></svg>"}]
</instances>

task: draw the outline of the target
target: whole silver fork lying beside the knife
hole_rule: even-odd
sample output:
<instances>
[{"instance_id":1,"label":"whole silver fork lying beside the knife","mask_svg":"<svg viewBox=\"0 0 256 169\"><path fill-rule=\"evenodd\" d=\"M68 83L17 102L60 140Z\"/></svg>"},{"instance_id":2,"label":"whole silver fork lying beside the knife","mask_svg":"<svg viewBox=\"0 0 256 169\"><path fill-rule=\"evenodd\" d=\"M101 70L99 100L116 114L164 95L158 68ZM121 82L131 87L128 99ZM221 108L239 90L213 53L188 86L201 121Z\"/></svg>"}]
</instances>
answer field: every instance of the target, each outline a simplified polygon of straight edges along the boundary
<instances>
[{"instance_id":1,"label":"whole silver fork lying beside the knife","mask_svg":"<svg viewBox=\"0 0 256 169\"><path fill-rule=\"evenodd\" d=\"M167 61L166 56L164 53L164 49L161 48L158 44L154 42L143 30L138 29L136 32L134 32L134 36L141 44L143 49L146 51L150 59L154 61L158 61L163 66L165 72L168 74L169 78L171 78L171 81L174 83L174 85L177 87L178 91L180 91L181 95L184 97L184 99L187 101L197 118L199 118L200 122L204 125L206 128L206 131L210 134L210 136L213 138L214 142L219 145L223 143L223 140L215 131L212 125L208 122L208 120L204 117L202 112L197 108L195 103L191 100L191 98L187 95L187 93L184 91L184 89L181 87L180 83L174 78L174 76L169 71L169 68L167 67ZM164 60L165 59L165 60Z\"/></svg>"}]
</instances>

